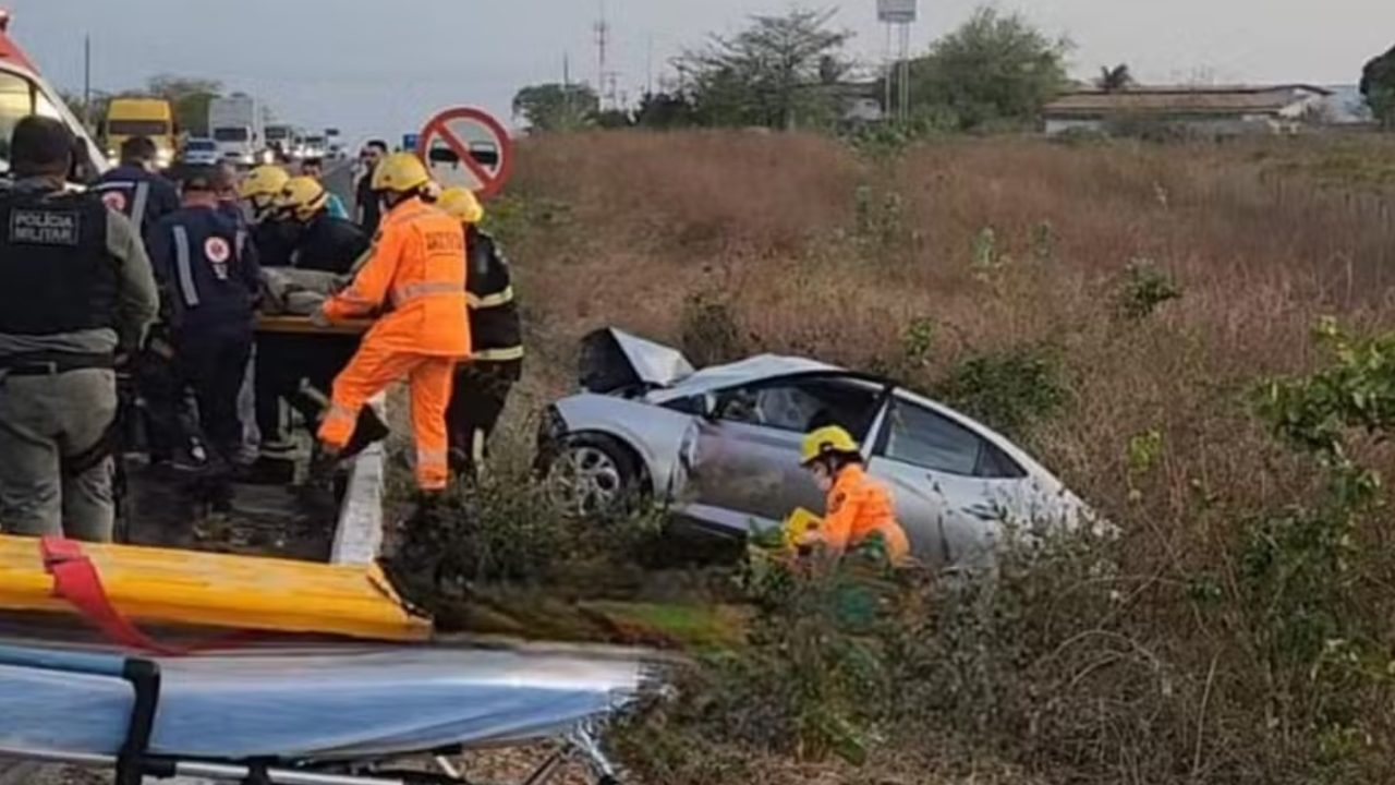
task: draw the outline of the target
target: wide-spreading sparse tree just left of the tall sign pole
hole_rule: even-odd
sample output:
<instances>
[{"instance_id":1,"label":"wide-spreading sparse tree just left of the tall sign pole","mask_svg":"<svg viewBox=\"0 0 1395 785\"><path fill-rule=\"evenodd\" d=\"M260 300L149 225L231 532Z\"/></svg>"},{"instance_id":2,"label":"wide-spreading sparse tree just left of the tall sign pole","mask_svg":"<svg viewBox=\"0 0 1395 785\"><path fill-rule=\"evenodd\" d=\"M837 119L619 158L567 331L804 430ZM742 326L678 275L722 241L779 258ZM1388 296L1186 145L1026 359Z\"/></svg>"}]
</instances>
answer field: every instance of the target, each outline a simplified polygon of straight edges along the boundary
<instances>
[{"instance_id":1,"label":"wide-spreading sparse tree just left of the tall sign pole","mask_svg":"<svg viewBox=\"0 0 1395 785\"><path fill-rule=\"evenodd\" d=\"M792 129L827 123L837 84L850 66L841 56L850 32L829 28L834 11L794 10L752 17L734 36L714 35L675 66L703 124Z\"/></svg>"}]
</instances>

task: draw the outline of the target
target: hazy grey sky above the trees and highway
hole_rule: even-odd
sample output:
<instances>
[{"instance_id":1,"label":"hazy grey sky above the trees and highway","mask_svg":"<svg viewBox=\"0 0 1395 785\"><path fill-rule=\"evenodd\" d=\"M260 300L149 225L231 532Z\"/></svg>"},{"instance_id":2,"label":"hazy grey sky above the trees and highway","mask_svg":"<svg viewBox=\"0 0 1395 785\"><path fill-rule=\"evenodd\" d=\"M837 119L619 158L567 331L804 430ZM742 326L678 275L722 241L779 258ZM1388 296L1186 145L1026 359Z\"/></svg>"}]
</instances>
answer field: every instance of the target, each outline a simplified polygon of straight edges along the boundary
<instances>
[{"instance_id":1,"label":"hazy grey sky above the trees and highway","mask_svg":"<svg viewBox=\"0 0 1395 785\"><path fill-rule=\"evenodd\" d=\"M790 0L605 0L611 70L643 91L667 60L748 14ZM914 47L961 22L979 0L921 0ZM206 75L268 99L307 127L336 124L350 141L396 138L434 109L481 105L508 115L513 92L596 81L591 27L600 0L0 0L13 35L50 81L82 85L82 36L92 35L93 85L140 85L156 73ZM854 52L880 61L875 0L840 7ZM1366 59L1395 43L1395 0L1003 0L1076 43L1073 73L1127 61L1143 81L1349 84ZM650 57L650 50L653 56Z\"/></svg>"}]
</instances>

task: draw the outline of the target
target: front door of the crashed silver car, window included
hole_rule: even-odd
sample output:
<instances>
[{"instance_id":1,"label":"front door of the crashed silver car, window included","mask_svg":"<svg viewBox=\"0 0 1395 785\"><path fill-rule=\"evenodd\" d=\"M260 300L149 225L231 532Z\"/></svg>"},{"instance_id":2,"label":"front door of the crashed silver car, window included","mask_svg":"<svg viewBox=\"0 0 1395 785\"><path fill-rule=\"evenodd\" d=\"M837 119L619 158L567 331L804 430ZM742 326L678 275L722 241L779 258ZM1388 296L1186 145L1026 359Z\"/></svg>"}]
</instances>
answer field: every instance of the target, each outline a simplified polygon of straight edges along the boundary
<instances>
[{"instance_id":1,"label":"front door of the crashed silver car, window included","mask_svg":"<svg viewBox=\"0 0 1395 785\"><path fill-rule=\"evenodd\" d=\"M861 439L880 397L876 384L829 376L720 391L696 423L685 513L737 531L778 525L797 507L822 514L823 493L799 465L804 437L826 420Z\"/></svg>"}]
</instances>

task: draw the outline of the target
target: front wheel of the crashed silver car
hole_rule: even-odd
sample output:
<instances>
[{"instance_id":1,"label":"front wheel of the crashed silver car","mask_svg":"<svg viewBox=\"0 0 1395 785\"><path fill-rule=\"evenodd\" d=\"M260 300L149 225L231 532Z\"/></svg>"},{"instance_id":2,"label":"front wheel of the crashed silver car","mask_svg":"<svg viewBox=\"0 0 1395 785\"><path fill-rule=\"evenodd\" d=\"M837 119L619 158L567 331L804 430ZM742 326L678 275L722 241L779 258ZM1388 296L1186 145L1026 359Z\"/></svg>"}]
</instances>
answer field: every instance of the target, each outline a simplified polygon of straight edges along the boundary
<instances>
[{"instance_id":1,"label":"front wheel of the crashed silver car","mask_svg":"<svg viewBox=\"0 0 1395 785\"><path fill-rule=\"evenodd\" d=\"M625 514L642 493L635 454L594 433L564 437L551 451L545 478L554 501L579 518Z\"/></svg>"}]
</instances>

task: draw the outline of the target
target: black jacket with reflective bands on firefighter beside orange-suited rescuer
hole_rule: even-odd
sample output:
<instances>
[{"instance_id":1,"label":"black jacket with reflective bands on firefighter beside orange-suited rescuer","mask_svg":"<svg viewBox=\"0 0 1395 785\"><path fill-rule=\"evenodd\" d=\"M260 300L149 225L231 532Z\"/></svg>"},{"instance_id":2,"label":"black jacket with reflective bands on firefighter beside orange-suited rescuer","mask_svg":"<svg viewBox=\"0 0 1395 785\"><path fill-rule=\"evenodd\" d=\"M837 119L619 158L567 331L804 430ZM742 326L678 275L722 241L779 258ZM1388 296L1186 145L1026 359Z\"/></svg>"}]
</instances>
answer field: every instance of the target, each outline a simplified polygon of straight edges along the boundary
<instances>
[{"instance_id":1,"label":"black jacket with reflective bands on firefighter beside orange-suited rescuer","mask_svg":"<svg viewBox=\"0 0 1395 785\"><path fill-rule=\"evenodd\" d=\"M494 237L470 232L466 251L470 268L465 279L470 303L470 358L476 362L501 362L523 358L523 325L508 263Z\"/></svg>"}]
</instances>

